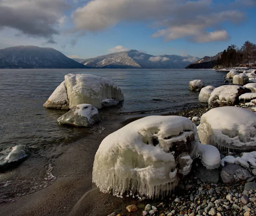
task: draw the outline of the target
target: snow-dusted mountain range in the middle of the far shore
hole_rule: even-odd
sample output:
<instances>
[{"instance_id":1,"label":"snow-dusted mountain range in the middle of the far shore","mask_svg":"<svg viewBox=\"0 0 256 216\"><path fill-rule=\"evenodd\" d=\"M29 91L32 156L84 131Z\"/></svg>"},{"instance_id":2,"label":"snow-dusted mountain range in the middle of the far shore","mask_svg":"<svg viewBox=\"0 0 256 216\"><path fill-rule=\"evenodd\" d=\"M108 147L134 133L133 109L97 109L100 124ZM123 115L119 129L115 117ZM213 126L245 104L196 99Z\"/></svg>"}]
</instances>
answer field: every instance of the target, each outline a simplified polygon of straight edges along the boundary
<instances>
[{"instance_id":1,"label":"snow-dusted mountain range in the middle of the far shore","mask_svg":"<svg viewBox=\"0 0 256 216\"><path fill-rule=\"evenodd\" d=\"M81 63L92 68L185 68L198 59L189 55L153 56L128 50L86 59Z\"/></svg>"}]
</instances>

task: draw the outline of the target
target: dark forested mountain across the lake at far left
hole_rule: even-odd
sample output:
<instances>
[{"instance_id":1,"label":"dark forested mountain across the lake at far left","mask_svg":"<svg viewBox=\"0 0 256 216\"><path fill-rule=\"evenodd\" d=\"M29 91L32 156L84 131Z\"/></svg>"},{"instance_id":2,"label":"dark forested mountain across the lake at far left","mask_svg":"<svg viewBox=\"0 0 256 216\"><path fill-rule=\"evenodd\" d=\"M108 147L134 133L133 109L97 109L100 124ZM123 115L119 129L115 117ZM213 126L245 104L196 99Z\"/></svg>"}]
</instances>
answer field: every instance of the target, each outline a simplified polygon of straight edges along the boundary
<instances>
[{"instance_id":1,"label":"dark forested mountain across the lake at far left","mask_svg":"<svg viewBox=\"0 0 256 216\"><path fill-rule=\"evenodd\" d=\"M87 68L53 48L15 46L0 49L0 68Z\"/></svg>"}]
</instances>

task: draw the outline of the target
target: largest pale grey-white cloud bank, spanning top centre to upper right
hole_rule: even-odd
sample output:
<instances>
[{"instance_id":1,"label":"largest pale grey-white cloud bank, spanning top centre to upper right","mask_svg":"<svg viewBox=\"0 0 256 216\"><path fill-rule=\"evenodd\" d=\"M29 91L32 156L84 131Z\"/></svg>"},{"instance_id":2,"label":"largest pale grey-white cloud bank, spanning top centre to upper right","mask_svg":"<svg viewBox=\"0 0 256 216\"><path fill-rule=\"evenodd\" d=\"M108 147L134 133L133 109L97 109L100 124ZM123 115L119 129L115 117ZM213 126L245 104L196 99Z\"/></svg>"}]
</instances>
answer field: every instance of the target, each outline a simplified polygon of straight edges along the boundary
<instances>
[{"instance_id":1,"label":"largest pale grey-white cloud bank, spanning top centre to upper right","mask_svg":"<svg viewBox=\"0 0 256 216\"><path fill-rule=\"evenodd\" d=\"M152 36L166 41L210 42L227 40L229 35L221 23L239 23L244 14L215 10L212 0L93 0L76 9L72 19L76 31L81 32L102 31L120 22L144 22L160 28ZM209 28L213 30L208 32Z\"/></svg>"}]
</instances>

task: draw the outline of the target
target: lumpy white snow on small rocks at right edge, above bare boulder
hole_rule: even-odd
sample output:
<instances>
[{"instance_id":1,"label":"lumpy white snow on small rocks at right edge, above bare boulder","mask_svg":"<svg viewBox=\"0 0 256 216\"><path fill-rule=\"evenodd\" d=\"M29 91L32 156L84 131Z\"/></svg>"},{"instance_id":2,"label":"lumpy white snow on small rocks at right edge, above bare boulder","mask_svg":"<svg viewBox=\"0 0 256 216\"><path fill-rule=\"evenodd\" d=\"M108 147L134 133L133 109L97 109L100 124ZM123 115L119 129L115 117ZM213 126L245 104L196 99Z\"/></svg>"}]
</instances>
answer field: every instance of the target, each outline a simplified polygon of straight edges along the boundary
<instances>
[{"instance_id":1,"label":"lumpy white snow on small rocks at right edge, above bare boulder","mask_svg":"<svg viewBox=\"0 0 256 216\"><path fill-rule=\"evenodd\" d=\"M221 166L224 167L225 162L230 164L241 165L246 168L249 168L249 163L252 166L256 166L256 151L245 152L242 154L241 157L234 157L231 155L225 156L223 159L221 159Z\"/></svg>"}]
</instances>

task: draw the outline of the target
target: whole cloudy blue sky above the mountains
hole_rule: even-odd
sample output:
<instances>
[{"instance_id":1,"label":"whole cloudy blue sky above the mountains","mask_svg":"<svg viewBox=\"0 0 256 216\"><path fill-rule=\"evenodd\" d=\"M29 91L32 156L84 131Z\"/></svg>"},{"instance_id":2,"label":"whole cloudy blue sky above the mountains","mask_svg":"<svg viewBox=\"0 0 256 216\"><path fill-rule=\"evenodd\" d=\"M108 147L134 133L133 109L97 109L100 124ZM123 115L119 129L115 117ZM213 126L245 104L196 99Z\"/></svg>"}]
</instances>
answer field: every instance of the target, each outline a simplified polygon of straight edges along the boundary
<instances>
[{"instance_id":1,"label":"whole cloudy blue sky above the mountains","mask_svg":"<svg viewBox=\"0 0 256 216\"><path fill-rule=\"evenodd\" d=\"M0 49L90 58L136 49L213 56L256 43L256 0L0 0Z\"/></svg>"}]
</instances>

